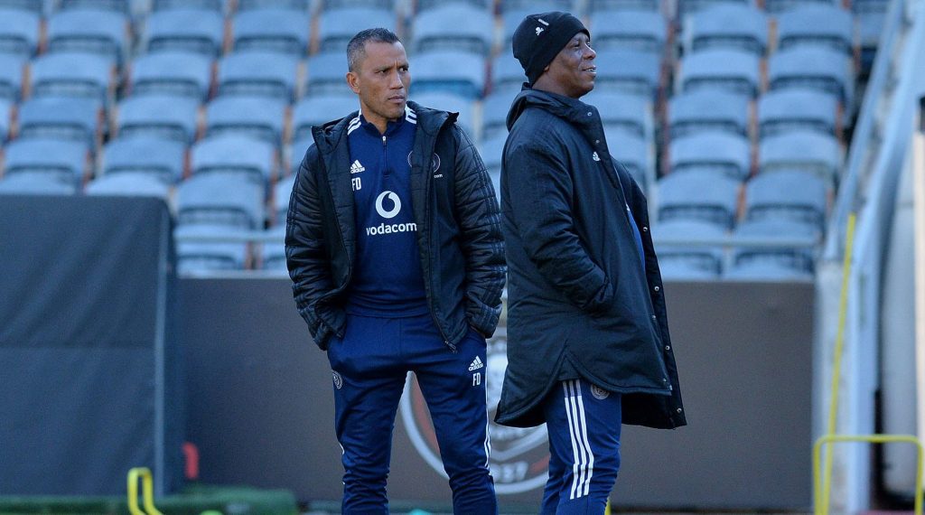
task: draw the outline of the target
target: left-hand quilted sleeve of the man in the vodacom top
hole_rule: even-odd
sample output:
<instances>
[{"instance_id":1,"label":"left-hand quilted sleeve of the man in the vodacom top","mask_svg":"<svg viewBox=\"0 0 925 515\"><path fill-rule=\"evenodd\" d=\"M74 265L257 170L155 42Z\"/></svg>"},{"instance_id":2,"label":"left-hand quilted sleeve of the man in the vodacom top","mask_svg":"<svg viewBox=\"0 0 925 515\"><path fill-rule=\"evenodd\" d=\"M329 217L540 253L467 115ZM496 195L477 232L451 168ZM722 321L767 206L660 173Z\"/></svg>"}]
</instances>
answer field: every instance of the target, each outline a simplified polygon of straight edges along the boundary
<instances>
[{"instance_id":1,"label":"left-hand quilted sleeve of the man in the vodacom top","mask_svg":"<svg viewBox=\"0 0 925 515\"><path fill-rule=\"evenodd\" d=\"M308 324L314 342L321 349L327 349L327 338L333 331L324 321L322 312L326 307L320 305L319 300L333 289L333 281L322 227L318 170L313 169L317 162L318 152L312 145L302 159L290 196L286 215L286 265L292 279L296 308Z\"/></svg>"}]
</instances>

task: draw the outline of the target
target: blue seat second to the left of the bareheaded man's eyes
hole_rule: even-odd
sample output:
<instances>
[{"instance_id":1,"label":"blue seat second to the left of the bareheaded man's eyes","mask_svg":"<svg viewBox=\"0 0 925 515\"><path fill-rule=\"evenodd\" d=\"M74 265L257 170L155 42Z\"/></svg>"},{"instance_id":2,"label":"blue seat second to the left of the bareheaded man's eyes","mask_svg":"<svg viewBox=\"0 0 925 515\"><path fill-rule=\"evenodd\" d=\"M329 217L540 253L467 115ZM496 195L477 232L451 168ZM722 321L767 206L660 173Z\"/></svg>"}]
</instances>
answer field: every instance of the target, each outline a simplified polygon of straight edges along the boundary
<instances>
[{"instance_id":1,"label":"blue seat second to the left of the bareheaded man's eyes","mask_svg":"<svg viewBox=\"0 0 925 515\"><path fill-rule=\"evenodd\" d=\"M218 63L218 94L262 96L289 104L295 98L298 60L265 51L235 52Z\"/></svg>"}]
</instances>

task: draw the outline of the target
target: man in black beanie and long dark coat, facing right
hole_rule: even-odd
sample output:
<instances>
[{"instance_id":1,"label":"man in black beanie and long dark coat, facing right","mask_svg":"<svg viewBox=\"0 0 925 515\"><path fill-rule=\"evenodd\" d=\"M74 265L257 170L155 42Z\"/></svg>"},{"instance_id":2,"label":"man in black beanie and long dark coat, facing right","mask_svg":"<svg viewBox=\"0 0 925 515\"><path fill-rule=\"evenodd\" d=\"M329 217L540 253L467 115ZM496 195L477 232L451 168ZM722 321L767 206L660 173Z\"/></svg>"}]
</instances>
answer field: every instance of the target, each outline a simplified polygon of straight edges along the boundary
<instances>
[{"instance_id":1,"label":"man in black beanie and long dark coat, facing right","mask_svg":"<svg viewBox=\"0 0 925 515\"><path fill-rule=\"evenodd\" d=\"M524 18L513 53L528 82L508 114L501 227L508 368L496 421L546 423L542 513L603 513L622 423L685 425L646 197L611 158L578 18Z\"/></svg>"}]
</instances>

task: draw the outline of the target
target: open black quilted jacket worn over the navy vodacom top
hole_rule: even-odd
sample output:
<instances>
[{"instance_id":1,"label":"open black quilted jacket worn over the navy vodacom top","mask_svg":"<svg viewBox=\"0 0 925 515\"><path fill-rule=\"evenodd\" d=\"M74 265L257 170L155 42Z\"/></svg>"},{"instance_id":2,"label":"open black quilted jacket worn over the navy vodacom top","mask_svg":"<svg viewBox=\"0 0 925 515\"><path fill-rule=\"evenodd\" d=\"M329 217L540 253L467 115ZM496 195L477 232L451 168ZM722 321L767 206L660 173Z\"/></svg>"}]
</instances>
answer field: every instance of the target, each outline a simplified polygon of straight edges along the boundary
<instances>
[{"instance_id":1,"label":"open black quilted jacket worn over the navy vodacom top","mask_svg":"<svg viewBox=\"0 0 925 515\"><path fill-rule=\"evenodd\" d=\"M456 114L409 105L417 113L411 189L427 303L454 349L467 325L486 336L498 325L505 277L498 201ZM296 307L321 349L346 326L356 255L347 125L356 116L313 129L286 219Z\"/></svg>"}]
</instances>

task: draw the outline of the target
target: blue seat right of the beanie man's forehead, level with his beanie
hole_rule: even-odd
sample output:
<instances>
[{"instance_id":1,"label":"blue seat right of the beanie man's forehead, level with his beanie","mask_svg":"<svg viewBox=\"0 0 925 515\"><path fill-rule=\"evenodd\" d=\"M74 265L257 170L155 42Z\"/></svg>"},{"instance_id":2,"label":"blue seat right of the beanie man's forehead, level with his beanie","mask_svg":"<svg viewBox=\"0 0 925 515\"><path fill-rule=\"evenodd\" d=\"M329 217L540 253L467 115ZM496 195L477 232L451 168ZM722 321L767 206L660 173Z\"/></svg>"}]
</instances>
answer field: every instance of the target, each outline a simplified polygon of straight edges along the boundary
<instances>
[{"instance_id":1,"label":"blue seat right of the beanie man's forehead, level with his beanie","mask_svg":"<svg viewBox=\"0 0 925 515\"><path fill-rule=\"evenodd\" d=\"M668 22L658 11L618 10L595 13L590 30L598 53L627 49L661 54L667 27Z\"/></svg>"}]
</instances>

